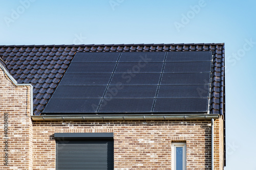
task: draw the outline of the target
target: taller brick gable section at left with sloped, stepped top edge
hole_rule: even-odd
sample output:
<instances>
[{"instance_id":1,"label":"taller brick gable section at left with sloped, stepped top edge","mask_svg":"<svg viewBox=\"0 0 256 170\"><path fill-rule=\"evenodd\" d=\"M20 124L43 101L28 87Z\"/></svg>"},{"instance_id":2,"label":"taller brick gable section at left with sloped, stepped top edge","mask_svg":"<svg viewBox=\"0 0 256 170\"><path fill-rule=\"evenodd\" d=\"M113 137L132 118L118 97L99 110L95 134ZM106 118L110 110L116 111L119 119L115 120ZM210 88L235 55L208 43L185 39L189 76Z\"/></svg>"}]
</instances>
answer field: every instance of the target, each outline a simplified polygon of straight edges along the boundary
<instances>
[{"instance_id":1,"label":"taller brick gable section at left with sloped, stepped top edge","mask_svg":"<svg viewBox=\"0 0 256 170\"><path fill-rule=\"evenodd\" d=\"M29 115L30 86L15 86L0 68L0 169L32 169L33 131ZM6 154L8 166L4 165Z\"/></svg>"}]
</instances>

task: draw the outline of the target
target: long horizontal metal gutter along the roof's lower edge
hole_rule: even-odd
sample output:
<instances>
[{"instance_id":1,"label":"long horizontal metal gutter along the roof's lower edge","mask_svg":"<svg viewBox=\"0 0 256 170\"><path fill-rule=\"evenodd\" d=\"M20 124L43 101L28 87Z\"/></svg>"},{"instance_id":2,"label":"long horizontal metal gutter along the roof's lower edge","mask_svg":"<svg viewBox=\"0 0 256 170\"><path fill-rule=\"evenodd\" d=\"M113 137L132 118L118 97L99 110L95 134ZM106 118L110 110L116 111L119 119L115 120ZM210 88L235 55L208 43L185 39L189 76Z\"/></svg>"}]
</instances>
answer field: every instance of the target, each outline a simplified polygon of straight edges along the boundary
<instances>
[{"instance_id":1,"label":"long horizontal metal gutter along the roof's lower edge","mask_svg":"<svg viewBox=\"0 0 256 170\"><path fill-rule=\"evenodd\" d=\"M145 115L31 115L34 121L81 121L81 120L211 120L219 114L145 114Z\"/></svg>"}]
</instances>

